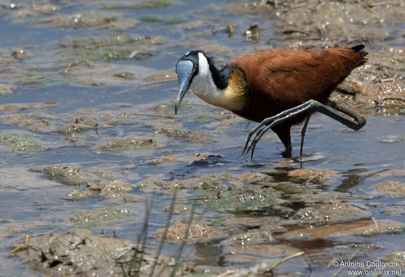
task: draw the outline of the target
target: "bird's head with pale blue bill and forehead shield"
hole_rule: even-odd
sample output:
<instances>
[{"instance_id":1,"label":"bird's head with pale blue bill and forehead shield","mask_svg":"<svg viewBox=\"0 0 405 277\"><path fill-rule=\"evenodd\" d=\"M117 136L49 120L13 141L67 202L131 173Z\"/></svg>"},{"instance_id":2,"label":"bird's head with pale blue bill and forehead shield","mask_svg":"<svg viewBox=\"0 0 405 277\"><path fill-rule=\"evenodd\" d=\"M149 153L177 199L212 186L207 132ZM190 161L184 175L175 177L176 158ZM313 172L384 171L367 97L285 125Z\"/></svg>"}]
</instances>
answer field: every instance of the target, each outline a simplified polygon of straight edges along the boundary
<instances>
[{"instance_id":1,"label":"bird's head with pale blue bill and forehead shield","mask_svg":"<svg viewBox=\"0 0 405 277\"><path fill-rule=\"evenodd\" d=\"M190 88L193 78L198 74L200 51L190 51L180 58L176 65L176 73L179 77L179 94L177 95L175 112L180 106L181 100Z\"/></svg>"}]
</instances>

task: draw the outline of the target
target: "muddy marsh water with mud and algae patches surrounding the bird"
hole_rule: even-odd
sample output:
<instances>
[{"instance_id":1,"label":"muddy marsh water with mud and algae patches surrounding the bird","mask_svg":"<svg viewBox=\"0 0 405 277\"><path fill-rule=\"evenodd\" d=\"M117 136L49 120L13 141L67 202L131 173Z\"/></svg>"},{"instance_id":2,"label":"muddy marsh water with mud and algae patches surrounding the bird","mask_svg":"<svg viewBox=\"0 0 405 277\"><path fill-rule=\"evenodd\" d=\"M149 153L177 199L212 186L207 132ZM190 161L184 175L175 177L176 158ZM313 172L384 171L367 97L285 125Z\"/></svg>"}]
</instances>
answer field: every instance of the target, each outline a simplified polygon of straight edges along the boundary
<instances>
[{"instance_id":1,"label":"muddy marsh water with mud and algae patches surrounding the bird","mask_svg":"<svg viewBox=\"0 0 405 277\"><path fill-rule=\"evenodd\" d=\"M349 259L404 265L403 4L283 2L277 10L265 1L0 5L3 274L56 274L57 266L44 267L35 255L42 251L52 260L41 238L52 233L63 240L71 228L137 243L151 199L146 245L154 254L174 190L164 255L184 236L190 210L198 233L233 213L188 256L193 272L232 273L300 251L312 270L299 256L273 273L332 274L341 269L333 260ZM223 65L264 49L359 43L370 62L332 97L366 114L367 125L354 132L315 115L303 157L300 128L292 130L291 159L281 157L284 146L268 133L250 160L240 156L248 133L243 118L191 93L174 115L173 68L190 49L206 50ZM16 251L20 260L8 253L10 245L24 244L24 235L33 247ZM183 255L198 236L189 240Z\"/></svg>"}]
</instances>

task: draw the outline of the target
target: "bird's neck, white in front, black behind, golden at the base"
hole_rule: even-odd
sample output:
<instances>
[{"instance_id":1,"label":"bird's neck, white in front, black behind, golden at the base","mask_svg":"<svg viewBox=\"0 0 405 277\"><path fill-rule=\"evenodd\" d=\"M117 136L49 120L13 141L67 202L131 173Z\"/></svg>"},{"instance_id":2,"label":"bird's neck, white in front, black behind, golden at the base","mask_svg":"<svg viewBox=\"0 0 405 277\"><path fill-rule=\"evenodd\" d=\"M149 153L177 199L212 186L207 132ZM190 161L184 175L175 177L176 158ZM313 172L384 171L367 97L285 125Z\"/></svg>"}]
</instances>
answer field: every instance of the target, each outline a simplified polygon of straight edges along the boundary
<instances>
[{"instance_id":1,"label":"bird's neck, white in front, black behind, golden at the base","mask_svg":"<svg viewBox=\"0 0 405 277\"><path fill-rule=\"evenodd\" d=\"M236 84L239 82L234 80L234 68L227 65L218 70L214 63L207 59L203 53L199 53L198 56L198 73L193 78L190 86L191 91L211 105L233 112L244 109L246 90Z\"/></svg>"}]
</instances>

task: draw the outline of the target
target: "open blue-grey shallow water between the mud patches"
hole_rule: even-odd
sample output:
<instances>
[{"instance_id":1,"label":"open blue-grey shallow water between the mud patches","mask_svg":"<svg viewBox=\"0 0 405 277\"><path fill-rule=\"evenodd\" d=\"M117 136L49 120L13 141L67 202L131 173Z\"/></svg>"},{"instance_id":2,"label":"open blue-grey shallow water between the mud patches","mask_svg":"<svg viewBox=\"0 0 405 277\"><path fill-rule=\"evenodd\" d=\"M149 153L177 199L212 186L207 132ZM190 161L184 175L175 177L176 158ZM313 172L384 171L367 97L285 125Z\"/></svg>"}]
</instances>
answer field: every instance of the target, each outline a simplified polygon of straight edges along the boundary
<instances>
[{"instance_id":1,"label":"open blue-grey shallow water between the mud patches","mask_svg":"<svg viewBox=\"0 0 405 277\"><path fill-rule=\"evenodd\" d=\"M30 4L21 3L23 8L20 8L20 11L29 11L27 7ZM373 189L376 184L405 180L403 174L378 175L379 172L388 170L405 170L403 115L368 116L367 125L358 132L351 131L326 116L315 115L311 118L304 142L304 153L314 161L301 163L297 162L298 156L283 159L280 152L284 150L284 146L278 139L273 138L259 142L253 160L248 156L241 157L248 134L247 121L232 116L228 111L213 108L191 93L184 98L176 117L150 116L150 114L174 116L174 99L177 96L178 84L177 81L148 84L150 81L145 78L151 74L173 71L179 57L192 48L199 48L205 41L210 43L202 48L211 50L211 54L219 59L219 64L225 64L236 56L262 48L285 48L295 41L285 36L280 37L280 29L274 25L279 24L280 19L274 14L248 13L233 9L233 5L244 5L240 2L170 3L173 4L170 7L153 9L113 9L112 12L121 13L120 18L139 21L136 26L123 31L109 28L52 27L50 24L39 24L36 21L49 15L34 12L27 12L26 17L16 19L16 12L7 8L8 2L0 3L4 5L0 13L0 37L3 38L0 40L0 83L14 86L12 94L0 95L0 105L10 103L22 105L21 109L1 110L0 136L10 136L10 133L24 134L27 140L46 148L39 151L25 151L21 150L23 146L19 147L20 142L17 142L15 147L20 151L15 152L12 151L11 144L0 144L0 219L2 219L0 234L11 235L0 237L2 274L36 275L21 264L20 260L8 256L9 246L19 244L24 234L61 233L77 226L72 220L66 220L72 217L72 212L75 211L101 208L130 211L128 217L118 222L90 225L90 228L94 234L104 230L106 234L112 235L115 231L119 239L135 242L144 221L144 200L152 195L152 191L147 188L134 187L129 194L140 196L136 202L111 206L102 203L100 197L71 201L64 197L76 189L75 186L63 185L58 179L49 180L44 174L30 170L35 166L68 165L91 171L94 182L103 179L121 180L135 186L148 177L171 181L175 178L187 180L223 172L235 175L247 171L260 173L277 167L276 163L287 163L292 169L336 171L339 177L332 178L325 185L319 185L322 192L338 191L374 196L371 200L347 200L346 203L370 211L377 221L405 222L404 213L399 215L382 213L391 206L403 207L405 205L403 199L376 195ZM102 5L94 6L94 4L91 1L81 4L60 1L55 4L58 6L56 14L76 14L90 9L103 9ZM146 21L145 16L157 16L158 21ZM181 22L168 24L170 21ZM195 28L184 27L182 24L186 22L195 23ZM262 30L260 39L248 41L241 33L254 22L258 22ZM225 31L227 24L235 24L235 32L231 37ZM215 35L212 33L214 28L218 30ZM401 33L403 23L393 27L384 25L383 30L390 30L387 35L389 39L367 47L374 50L404 47L403 32ZM152 56L140 61L128 57L108 60L103 57L111 54L111 50L105 49L101 50L104 52L98 53L100 45L95 46L97 53L86 52L91 45L87 48L70 47L72 40L77 38L99 36L108 41L110 37L116 39L123 34L146 37L142 38L146 41L146 46L138 46L135 40L125 44L126 51L151 50ZM147 37L151 36L162 36L163 40L160 43L147 44L150 39ZM190 42L194 42L195 46L190 45ZM27 53L21 60L11 56L13 51L19 49L24 49ZM94 61L94 65L68 65L75 61L89 60ZM69 67L70 71L64 74L63 70ZM99 72L99 75L94 72ZM135 76L132 80L122 80L114 76L120 72L131 72ZM29 106L30 104L37 104L37 107ZM27 116L30 113L32 115ZM16 114L27 116L26 122L18 119L10 120L10 116ZM74 125L74 119L78 116L89 117L96 121L97 133L90 128L81 133L61 134L59 130ZM38 129L32 128L33 126L37 126ZM249 128L254 126L256 123L251 123ZM203 141L192 143L176 136L168 137L162 128L168 130L179 128L183 132L203 130L198 133ZM204 136L205 133L208 135ZM95 149L96 145L105 143L107 138L128 136L152 138L159 146L155 149L141 148L118 152L100 152ZM292 139L293 154L298 155L299 128L292 130ZM387 140L393 142L383 142ZM200 159L198 156L193 157L196 153L212 156ZM155 159L161 161L168 155L175 156L179 161L157 165L150 162ZM131 166L123 169L128 165ZM83 189L85 185L85 182L80 183L78 188ZM177 195L179 200L199 196L201 191L190 188L184 188L183 192ZM157 228L165 226L168 213L164 210L170 206L171 199L171 193L163 189L155 191L148 246L158 246L157 240L152 239L150 235ZM367 206L366 204L370 202L379 205ZM206 221L215 222L220 216L221 214L218 215L216 211L208 211ZM174 215L173 219L183 218L185 216L180 214ZM289 228L294 230L299 227ZM356 256L357 260L381 260L392 252L403 251L405 248L403 234L380 234L378 240L375 236L350 235L304 242L280 238L277 240L280 245L305 251L313 267L311 272L313 275L335 273L339 268L327 267L325 261L335 256L350 257L357 249L362 249ZM372 244L373 247L370 247ZM166 244L163 253L170 255L174 249L174 245ZM232 262L217 241L198 245L188 262L201 266L240 267L255 264L240 260ZM273 273L292 274L295 271L306 274L310 272L302 257L279 265Z\"/></svg>"}]
</instances>

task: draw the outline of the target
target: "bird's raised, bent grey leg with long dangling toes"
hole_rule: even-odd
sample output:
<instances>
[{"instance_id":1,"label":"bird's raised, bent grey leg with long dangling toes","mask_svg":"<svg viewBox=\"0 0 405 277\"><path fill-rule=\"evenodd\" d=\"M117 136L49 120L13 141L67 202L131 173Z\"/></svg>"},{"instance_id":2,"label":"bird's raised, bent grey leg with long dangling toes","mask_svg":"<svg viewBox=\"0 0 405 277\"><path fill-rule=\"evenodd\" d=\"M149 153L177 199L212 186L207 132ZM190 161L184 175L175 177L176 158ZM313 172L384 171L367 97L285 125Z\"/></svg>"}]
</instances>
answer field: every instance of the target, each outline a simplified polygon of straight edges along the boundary
<instances>
[{"instance_id":1,"label":"bird's raised, bent grey leg with long dangling toes","mask_svg":"<svg viewBox=\"0 0 405 277\"><path fill-rule=\"evenodd\" d=\"M338 113L336 110L353 117L354 121L349 120L342 114ZM271 116L271 117L263 120L255 129L253 129L252 131L249 132L249 136L248 136L248 140L245 145L245 149L249 145L249 141L250 141L251 137L253 136L253 134L256 133L262 126L267 125L265 128L261 129L256 134L253 142L251 143L249 148L246 150L246 153L248 153L249 150L252 149L252 155L251 155L251 158L252 158L256 144L260 140L260 138L264 135L264 133L266 133L271 127L276 126L282 122L285 122L289 118L292 118L292 117L294 117L298 114L304 113L304 112L309 112L309 113L321 112L321 113L333 118L334 120L339 121L340 123L346 125L347 127L349 127L350 129L353 129L353 130L359 130L363 126L366 125L366 118L359 113L353 112L349 109L339 106L338 104L336 104L333 101L329 101L328 106L326 106L326 105L322 105L318 101L311 99L297 107L285 110L283 112L278 113L277 115ZM242 152L242 155L246 154L245 149Z\"/></svg>"}]
</instances>

